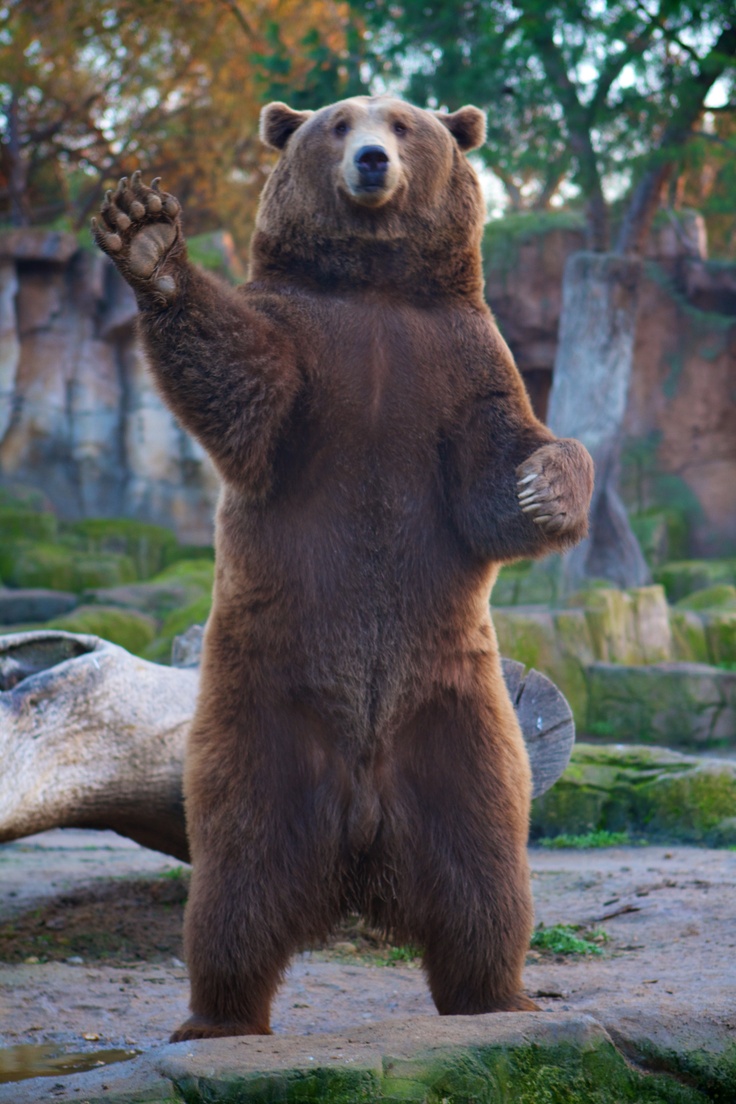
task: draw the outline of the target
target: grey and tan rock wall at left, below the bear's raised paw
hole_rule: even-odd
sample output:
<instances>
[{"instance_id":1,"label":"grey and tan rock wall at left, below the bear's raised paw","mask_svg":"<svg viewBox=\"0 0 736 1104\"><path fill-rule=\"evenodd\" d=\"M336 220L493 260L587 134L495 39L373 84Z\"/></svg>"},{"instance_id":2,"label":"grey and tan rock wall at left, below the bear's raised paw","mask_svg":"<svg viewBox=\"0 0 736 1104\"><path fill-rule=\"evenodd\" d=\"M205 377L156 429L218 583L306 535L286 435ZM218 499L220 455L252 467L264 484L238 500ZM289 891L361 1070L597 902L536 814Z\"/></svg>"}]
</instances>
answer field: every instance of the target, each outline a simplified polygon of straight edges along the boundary
<instances>
[{"instance_id":1,"label":"grey and tan rock wall at left, below the bear's raised paw","mask_svg":"<svg viewBox=\"0 0 736 1104\"><path fill-rule=\"evenodd\" d=\"M213 467L159 397L132 293L73 234L0 235L0 482L64 520L132 517L211 543Z\"/></svg>"}]
</instances>

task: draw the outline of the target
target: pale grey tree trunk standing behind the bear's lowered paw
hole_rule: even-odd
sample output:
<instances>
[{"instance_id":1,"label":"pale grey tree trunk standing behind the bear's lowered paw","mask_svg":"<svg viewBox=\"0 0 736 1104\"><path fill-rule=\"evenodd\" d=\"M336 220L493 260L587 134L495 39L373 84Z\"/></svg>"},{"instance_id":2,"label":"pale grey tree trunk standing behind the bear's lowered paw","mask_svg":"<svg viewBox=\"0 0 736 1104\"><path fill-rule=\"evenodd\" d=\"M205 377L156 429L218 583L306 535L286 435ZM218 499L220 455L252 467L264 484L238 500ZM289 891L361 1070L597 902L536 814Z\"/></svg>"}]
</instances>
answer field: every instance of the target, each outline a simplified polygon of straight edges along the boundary
<instances>
[{"instance_id":1,"label":"pale grey tree trunk standing behind the bear's lowered paw","mask_svg":"<svg viewBox=\"0 0 736 1104\"><path fill-rule=\"evenodd\" d=\"M557 436L583 442L596 486L589 535L562 561L563 593L586 578L619 586L649 581L617 486L640 273L639 259L600 253L575 253L565 266L547 424Z\"/></svg>"}]
</instances>

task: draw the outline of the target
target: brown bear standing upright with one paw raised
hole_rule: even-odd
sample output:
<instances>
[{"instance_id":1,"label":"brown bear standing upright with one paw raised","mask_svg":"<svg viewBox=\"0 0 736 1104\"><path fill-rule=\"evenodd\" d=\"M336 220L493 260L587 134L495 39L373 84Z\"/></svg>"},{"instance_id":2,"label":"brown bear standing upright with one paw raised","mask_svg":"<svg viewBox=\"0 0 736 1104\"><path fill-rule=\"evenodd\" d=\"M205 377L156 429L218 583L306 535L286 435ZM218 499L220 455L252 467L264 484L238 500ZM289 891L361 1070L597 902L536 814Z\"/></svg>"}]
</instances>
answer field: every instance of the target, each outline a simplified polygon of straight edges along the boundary
<instances>
[{"instance_id":1,"label":"brown bear standing upright with one paw raised","mask_svg":"<svg viewBox=\"0 0 736 1104\"><path fill-rule=\"evenodd\" d=\"M440 1013L531 1009L530 771L489 595L586 532L593 468L534 416L483 300L474 107L270 104L248 282L186 259L140 173L98 245L222 476L185 767L192 1016L269 1032L291 955L359 912Z\"/></svg>"}]
</instances>

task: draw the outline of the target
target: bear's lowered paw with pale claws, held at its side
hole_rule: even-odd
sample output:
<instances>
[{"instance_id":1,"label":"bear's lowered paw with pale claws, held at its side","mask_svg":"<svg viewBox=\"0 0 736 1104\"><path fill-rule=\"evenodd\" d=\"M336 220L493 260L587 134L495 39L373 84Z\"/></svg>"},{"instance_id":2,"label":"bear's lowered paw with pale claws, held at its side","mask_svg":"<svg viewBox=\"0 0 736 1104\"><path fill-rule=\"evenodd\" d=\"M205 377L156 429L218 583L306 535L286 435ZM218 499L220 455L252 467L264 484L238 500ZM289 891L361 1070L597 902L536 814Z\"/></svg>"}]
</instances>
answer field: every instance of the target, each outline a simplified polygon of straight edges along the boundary
<instances>
[{"instance_id":1,"label":"bear's lowered paw with pale claws, held at its side","mask_svg":"<svg viewBox=\"0 0 736 1104\"><path fill-rule=\"evenodd\" d=\"M594 469L579 440L561 438L543 445L520 464L516 478L522 512L552 544L570 545L585 537Z\"/></svg>"}]
</instances>

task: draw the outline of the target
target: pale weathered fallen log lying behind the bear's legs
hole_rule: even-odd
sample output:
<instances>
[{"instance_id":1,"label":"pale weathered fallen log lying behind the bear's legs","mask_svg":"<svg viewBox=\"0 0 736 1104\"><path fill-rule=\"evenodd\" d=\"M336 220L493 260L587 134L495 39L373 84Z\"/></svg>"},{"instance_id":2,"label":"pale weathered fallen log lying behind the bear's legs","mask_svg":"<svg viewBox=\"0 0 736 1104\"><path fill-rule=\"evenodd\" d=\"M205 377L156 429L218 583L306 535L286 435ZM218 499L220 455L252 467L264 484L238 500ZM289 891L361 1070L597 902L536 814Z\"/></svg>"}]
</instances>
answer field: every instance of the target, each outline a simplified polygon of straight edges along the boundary
<instances>
[{"instance_id":1,"label":"pale weathered fallen log lying behind the bear's legs","mask_svg":"<svg viewBox=\"0 0 736 1104\"><path fill-rule=\"evenodd\" d=\"M573 715L538 671L504 659L503 673L536 797L567 765ZM196 667L150 664L96 636L0 636L0 842L111 828L189 861L182 769L198 682Z\"/></svg>"}]
</instances>

